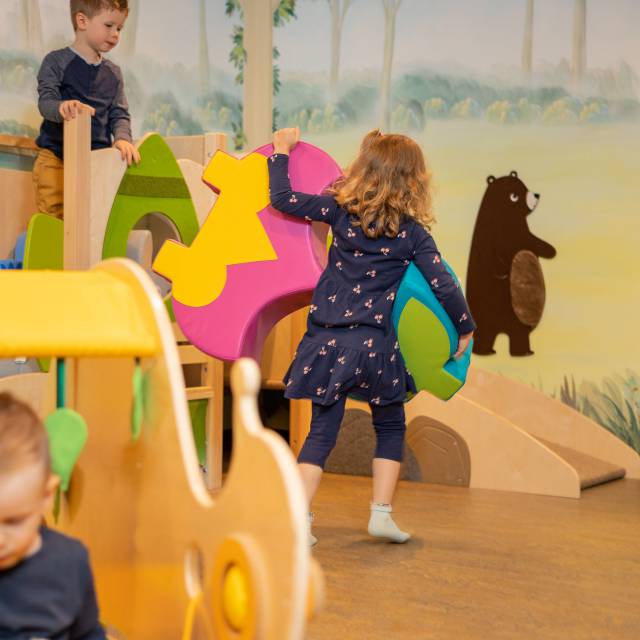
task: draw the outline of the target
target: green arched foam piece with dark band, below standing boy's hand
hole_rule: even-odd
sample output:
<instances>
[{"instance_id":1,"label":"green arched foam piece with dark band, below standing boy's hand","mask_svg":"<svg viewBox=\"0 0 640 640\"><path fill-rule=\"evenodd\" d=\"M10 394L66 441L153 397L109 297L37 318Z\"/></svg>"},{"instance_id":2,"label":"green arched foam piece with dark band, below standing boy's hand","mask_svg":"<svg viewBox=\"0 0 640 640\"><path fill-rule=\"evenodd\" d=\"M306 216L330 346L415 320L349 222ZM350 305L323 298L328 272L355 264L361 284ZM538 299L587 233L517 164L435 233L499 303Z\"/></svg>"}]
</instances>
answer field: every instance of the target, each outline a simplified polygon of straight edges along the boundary
<instances>
[{"instance_id":1,"label":"green arched foam piece with dark band, below standing boy's hand","mask_svg":"<svg viewBox=\"0 0 640 640\"><path fill-rule=\"evenodd\" d=\"M166 216L179 240L191 245L199 229L189 189L173 152L157 134L140 145L140 163L125 172L113 201L102 246L102 257L126 255L127 238L149 213Z\"/></svg>"}]
</instances>

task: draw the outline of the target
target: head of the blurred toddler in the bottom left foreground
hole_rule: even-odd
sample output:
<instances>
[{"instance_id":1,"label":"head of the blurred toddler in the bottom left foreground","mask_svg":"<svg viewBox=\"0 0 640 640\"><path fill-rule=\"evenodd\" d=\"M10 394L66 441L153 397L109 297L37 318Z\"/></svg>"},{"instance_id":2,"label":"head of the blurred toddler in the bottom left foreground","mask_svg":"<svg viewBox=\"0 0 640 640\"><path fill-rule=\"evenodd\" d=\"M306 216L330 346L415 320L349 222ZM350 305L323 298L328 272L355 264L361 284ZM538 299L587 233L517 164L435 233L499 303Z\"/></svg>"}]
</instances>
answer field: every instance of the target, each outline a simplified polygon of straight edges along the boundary
<instances>
[{"instance_id":1,"label":"head of the blurred toddler in the bottom left foreground","mask_svg":"<svg viewBox=\"0 0 640 640\"><path fill-rule=\"evenodd\" d=\"M42 422L24 402L0 393L0 571L38 551L56 487Z\"/></svg>"}]
</instances>

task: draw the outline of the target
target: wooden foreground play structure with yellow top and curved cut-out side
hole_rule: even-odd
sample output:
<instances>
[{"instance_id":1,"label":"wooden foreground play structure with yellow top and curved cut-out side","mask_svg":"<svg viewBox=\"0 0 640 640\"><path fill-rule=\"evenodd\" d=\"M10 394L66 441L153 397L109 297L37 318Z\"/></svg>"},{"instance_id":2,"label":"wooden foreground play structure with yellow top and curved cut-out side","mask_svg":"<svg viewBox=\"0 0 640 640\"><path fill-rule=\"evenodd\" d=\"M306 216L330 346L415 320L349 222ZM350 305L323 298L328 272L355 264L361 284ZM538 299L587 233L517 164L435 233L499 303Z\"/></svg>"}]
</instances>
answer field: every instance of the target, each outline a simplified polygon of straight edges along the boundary
<instances>
[{"instance_id":1,"label":"wooden foreground play structure with yellow top and curved cut-out side","mask_svg":"<svg viewBox=\"0 0 640 640\"><path fill-rule=\"evenodd\" d=\"M89 547L102 619L123 638L302 638L322 581L286 445L262 428L255 363L232 371L234 457L214 499L198 466L181 363L161 298L142 269L2 274L0 356L73 358L69 402L89 440L57 526ZM45 325L39 309L49 305ZM141 435L131 376L145 378ZM2 381L41 415L52 376ZM315 604L314 604L315 603Z\"/></svg>"}]
</instances>

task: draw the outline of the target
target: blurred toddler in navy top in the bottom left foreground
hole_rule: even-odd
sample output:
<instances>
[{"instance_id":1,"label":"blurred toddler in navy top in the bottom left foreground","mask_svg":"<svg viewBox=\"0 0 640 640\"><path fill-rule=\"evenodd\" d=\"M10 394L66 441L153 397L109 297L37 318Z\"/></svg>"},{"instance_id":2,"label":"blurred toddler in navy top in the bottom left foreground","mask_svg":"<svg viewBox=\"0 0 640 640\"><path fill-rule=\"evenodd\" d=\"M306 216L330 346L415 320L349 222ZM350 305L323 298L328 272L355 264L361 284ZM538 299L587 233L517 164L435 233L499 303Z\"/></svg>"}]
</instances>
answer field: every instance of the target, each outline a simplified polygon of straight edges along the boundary
<instances>
[{"instance_id":1,"label":"blurred toddler in navy top in the bottom left foreground","mask_svg":"<svg viewBox=\"0 0 640 640\"><path fill-rule=\"evenodd\" d=\"M42 423L0 393L0 638L106 638L86 549L42 524L57 485Z\"/></svg>"}]
</instances>

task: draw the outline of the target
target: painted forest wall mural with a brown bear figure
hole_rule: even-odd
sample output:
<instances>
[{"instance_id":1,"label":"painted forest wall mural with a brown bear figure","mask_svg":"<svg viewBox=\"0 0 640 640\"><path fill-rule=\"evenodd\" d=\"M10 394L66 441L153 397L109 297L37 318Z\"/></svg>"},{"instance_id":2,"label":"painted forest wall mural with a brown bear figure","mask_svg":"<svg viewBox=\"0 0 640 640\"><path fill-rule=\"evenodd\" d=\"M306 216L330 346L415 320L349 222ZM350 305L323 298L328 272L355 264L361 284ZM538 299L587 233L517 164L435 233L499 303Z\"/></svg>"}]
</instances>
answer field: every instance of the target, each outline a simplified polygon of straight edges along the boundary
<instances>
[{"instance_id":1,"label":"painted forest wall mural with a brown bear figure","mask_svg":"<svg viewBox=\"0 0 640 640\"><path fill-rule=\"evenodd\" d=\"M241 144L238 3L132 5L113 57L134 133ZM1 3L0 132L35 135L35 75L72 37L67 6ZM475 366L638 450L639 23L634 0L283 0L274 17L277 126L341 164L375 126L422 145L434 236L468 272Z\"/></svg>"}]
</instances>

